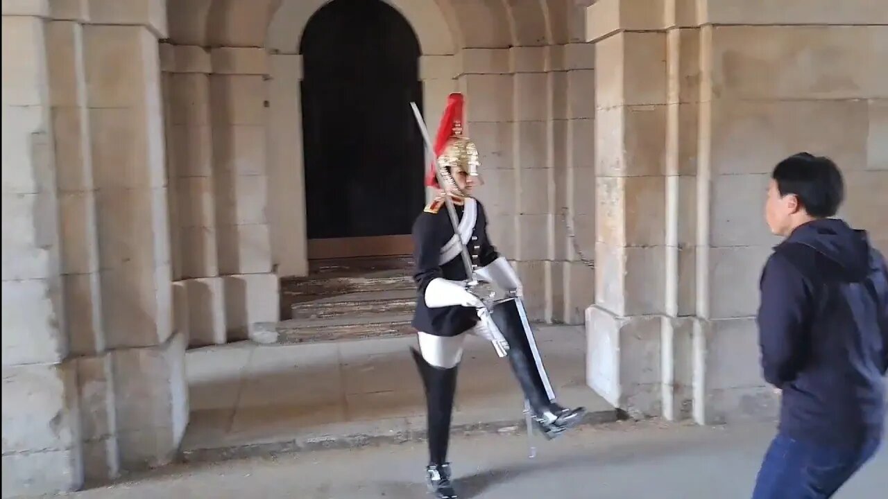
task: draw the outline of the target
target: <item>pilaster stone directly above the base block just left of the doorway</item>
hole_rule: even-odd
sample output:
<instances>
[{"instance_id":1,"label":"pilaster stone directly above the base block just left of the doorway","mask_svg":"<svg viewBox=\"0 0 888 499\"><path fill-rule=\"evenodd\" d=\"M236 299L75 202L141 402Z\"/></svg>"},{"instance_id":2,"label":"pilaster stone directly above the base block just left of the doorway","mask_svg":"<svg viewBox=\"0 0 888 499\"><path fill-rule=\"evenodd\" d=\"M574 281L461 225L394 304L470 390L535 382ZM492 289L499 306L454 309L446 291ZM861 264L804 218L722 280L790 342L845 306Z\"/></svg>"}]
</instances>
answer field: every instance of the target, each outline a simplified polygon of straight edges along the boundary
<instances>
[{"instance_id":1,"label":"pilaster stone directly above the base block just left of the doorway","mask_svg":"<svg viewBox=\"0 0 888 499\"><path fill-rule=\"evenodd\" d=\"M271 237L265 224L218 227L219 273L268 273Z\"/></svg>"}]
</instances>

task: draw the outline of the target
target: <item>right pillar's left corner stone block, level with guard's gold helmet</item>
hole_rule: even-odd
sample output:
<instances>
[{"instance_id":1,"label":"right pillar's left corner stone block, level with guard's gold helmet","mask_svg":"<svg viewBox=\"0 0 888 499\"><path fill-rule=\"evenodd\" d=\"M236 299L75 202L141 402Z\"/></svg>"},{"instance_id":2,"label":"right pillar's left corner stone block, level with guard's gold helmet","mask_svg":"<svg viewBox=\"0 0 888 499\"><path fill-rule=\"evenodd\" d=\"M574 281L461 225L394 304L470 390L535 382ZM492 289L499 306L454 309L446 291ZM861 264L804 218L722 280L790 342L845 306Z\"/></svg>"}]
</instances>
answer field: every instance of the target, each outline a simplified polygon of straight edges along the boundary
<instances>
[{"instance_id":1,"label":"right pillar's left corner stone block, level with guard's gold helmet","mask_svg":"<svg viewBox=\"0 0 888 499\"><path fill-rule=\"evenodd\" d=\"M663 175L666 110L666 106L599 109L595 118L595 167L599 176Z\"/></svg>"}]
</instances>

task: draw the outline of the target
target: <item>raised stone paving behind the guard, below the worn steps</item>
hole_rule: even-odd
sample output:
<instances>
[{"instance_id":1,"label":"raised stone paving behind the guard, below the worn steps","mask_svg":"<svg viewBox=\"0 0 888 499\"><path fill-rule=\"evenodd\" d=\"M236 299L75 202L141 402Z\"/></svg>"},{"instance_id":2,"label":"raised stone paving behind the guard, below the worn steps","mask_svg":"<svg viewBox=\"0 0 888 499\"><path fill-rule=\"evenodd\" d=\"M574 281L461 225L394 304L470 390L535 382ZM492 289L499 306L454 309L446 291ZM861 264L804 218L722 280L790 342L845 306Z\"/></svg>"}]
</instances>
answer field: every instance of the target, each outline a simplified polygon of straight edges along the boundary
<instances>
[{"instance_id":1,"label":"raised stone paving behind the guard, below the worn steps","mask_svg":"<svg viewBox=\"0 0 888 499\"><path fill-rule=\"evenodd\" d=\"M537 340L559 400L614 420L613 408L585 384L583 330L543 326ZM422 386L408 351L415 344L415 337L400 337L189 351L186 459L308 449L344 436L351 440L339 447L407 440L425 427ZM457 386L454 424L496 430L521 420L518 384L488 342L469 338Z\"/></svg>"}]
</instances>

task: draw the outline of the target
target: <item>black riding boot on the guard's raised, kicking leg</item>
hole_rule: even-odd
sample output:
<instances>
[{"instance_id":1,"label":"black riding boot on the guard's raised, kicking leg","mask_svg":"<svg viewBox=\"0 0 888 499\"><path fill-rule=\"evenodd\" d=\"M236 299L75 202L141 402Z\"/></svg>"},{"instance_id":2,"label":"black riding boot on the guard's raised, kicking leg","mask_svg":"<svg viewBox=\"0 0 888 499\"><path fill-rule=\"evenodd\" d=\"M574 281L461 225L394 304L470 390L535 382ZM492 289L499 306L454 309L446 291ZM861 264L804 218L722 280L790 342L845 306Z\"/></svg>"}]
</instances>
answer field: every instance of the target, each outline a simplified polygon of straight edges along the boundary
<instances>
[{"instance_id":1,"label":"black riding boot on the guard's raised, kicking leg","mask_svg":"<svg viewBox=\"0 0 888 499\"><path fill-rule=\"evenodd\" d=\"M551 440L579 424L586 413L585 408L563 408L549 399L523 325L514 323L509 316L495 313L494 318L509 344L509 363L530 404L532 419L543 435Z\"/></svg>"}]
</instances>

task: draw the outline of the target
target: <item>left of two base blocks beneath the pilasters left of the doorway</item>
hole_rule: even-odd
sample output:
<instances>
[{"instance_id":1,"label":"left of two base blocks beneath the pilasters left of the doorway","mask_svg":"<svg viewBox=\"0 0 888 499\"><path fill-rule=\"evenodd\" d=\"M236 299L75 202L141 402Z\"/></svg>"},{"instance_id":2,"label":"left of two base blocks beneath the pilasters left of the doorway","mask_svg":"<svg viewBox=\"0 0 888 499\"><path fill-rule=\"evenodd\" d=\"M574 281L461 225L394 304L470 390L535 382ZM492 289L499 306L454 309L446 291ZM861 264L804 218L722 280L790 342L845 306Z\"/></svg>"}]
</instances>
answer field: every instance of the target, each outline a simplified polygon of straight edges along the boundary
<instances>
[{"instance_id":1,"label":"left of two base blocks beneath the pilasters left of the doorway","mask_svg":"<svg viewBox=\"0 0 888 499\"><path fill-rule=\"evenodd\" d=\"M188 345L226 343L226 289L222 277L184 281L188 304Z\"/></svg>"}]
</instances>

